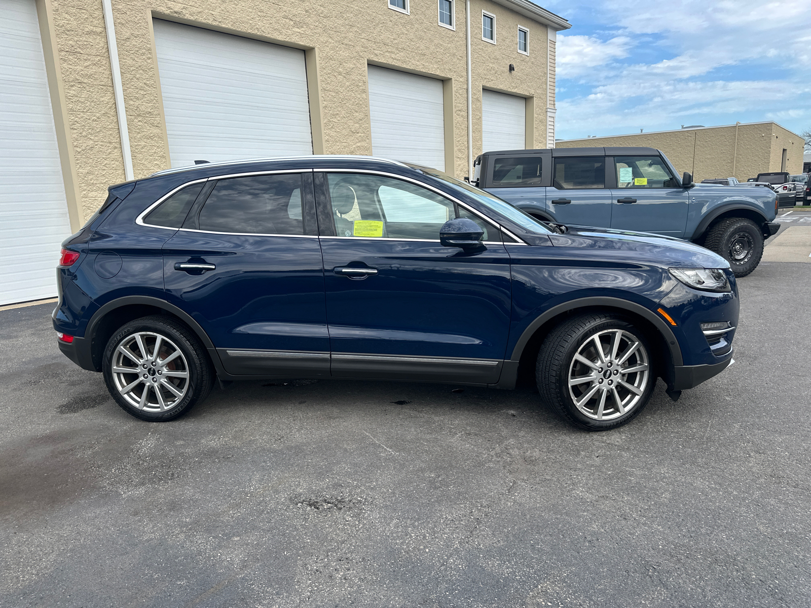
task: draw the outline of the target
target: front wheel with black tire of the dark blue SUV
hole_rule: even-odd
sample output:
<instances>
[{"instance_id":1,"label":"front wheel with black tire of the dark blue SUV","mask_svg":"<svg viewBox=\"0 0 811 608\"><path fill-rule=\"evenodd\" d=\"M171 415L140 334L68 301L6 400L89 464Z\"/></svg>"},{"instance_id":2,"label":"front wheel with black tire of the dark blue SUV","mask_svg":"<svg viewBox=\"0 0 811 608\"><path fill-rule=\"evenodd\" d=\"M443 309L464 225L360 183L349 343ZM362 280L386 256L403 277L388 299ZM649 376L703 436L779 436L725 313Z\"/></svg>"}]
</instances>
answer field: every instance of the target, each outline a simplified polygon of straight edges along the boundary
<instances>
[{"instance_id":1,"label":"front wheel with black tire of the dark blue SUV","mask_svg":"<svg viewBox=\"0 0 811 608\"><path fill-rule=\"evenodd\" d=\"M618 349L616 358L610 356L612 335L620 336L622 349ZM606 360L603 363L599 363L600 358L596 355L594 336L598 336L605 347L603 359ZM618 370L617 362L632 346L631 340L638 342L637 350L632 351L629 358L619 364ZM590 341L591 350L588 347ZM623 344L626 346L623 347ZM585 366L579 359L575 360L578 351L581 357L595 363ZM608 358L606 354L609 355ZM549 332L538 353L535 380L543 400L573 425L586 430L611 430L628 424L645 409L656 384L654 364L644 332L616 315L595 313L567 319ZM634 369L635 366L647 366L647 369L621 374L621 370ZM594 379L570 387L570 375L575 380L582 380L587 375L593 375ZM609 383L611 387L608 386ZM631 392L626 387L628 384L633 385L639 394ZM589 399L587 394L592 388L595 391L594 396ZM603 394L606 396L602 397ZM578 407L576 398L581 401L581 407Z\"/></svg>"}]
</instances>

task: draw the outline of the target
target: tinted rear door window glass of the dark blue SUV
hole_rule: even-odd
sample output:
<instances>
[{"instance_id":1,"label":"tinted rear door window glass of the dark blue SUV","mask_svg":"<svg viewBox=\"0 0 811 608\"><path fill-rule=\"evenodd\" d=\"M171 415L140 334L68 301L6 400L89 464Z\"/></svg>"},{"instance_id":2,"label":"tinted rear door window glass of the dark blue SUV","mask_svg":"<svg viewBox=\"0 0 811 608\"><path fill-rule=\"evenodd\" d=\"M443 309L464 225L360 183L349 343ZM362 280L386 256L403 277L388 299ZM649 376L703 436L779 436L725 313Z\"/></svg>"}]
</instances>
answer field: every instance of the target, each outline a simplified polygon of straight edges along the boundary
<instances>
[{"instance_id":1,"label":"tinted rear door window glass of the dark blue SUV","mask_svg":"<svg viewBox=\"0 0 811 608\"><path fill-rule=\"evenodd\" d=\"M221 179L200 210L200 229L251 234L303 234L301 176Z\"/></svg>"}]
</instances>

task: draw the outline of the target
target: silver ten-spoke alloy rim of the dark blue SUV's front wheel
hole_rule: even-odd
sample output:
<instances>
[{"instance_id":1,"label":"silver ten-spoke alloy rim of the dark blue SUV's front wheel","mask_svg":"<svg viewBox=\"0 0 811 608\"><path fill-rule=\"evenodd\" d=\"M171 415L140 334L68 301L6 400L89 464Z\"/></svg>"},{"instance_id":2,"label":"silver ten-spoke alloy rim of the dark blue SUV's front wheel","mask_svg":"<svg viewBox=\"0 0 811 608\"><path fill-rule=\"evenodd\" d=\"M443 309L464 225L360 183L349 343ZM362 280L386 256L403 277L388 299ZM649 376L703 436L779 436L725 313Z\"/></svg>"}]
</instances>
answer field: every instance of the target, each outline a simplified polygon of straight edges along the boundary
<instances>
[{"instance_id":1,"label":"silver ten-spoke alloy rim of the dark blue SUV's front wheel","mask_svg":"<svg viewBox=\"0 0 811 608\"><path fill-rule=\"evenodd\" d=\"M620 417L639 405L650 382L645 346L622 329L589 336L569 366L569 395L594 420Z\"/></svg>"}]
</instances>

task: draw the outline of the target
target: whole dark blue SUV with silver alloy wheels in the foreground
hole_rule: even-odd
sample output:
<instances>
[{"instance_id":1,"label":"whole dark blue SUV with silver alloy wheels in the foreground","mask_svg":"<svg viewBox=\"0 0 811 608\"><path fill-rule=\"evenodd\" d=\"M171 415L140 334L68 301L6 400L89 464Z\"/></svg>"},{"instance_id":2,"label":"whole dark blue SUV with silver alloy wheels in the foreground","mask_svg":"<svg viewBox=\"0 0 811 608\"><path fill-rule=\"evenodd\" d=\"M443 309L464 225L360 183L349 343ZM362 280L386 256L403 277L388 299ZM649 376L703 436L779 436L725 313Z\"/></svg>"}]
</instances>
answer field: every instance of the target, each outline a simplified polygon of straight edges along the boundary
<instances>
[{"instance_id":1,"label":"whole dark blue SUV with silver alloy wheels in the foreground","mask_svg":"<svg viewBox=\"0 0 811 608\"><path fill-rule=\"evenodd\" d=\"M676 399L732 363L738 297L719 255L548 225L417 165L169 169L110 187L63 246L59 348L144 420L238 379L529 376L603 430L640 413L657 377Z\"/></svg>"}]
</instances>

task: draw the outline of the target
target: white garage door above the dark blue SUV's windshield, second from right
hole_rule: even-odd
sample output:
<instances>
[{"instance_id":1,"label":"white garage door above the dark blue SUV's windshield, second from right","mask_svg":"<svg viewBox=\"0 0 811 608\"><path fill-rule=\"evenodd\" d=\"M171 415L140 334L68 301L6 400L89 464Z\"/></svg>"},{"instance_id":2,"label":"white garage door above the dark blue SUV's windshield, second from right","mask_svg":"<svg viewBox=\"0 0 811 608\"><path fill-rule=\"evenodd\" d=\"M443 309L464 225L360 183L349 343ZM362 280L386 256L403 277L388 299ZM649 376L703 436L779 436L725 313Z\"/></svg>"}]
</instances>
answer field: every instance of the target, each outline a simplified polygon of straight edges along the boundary
<instances>
[{"instance_id":1,"label":"white garage door above the dark blue SUV's windshield, second from right","mask_svg":"<svg viewBox=\"0 0 811 608\"><path fill-rule=\"evenodd\" d=\"M369 66L371 151L445 170L442 81Z\"/></svg>"}]
</instances>

